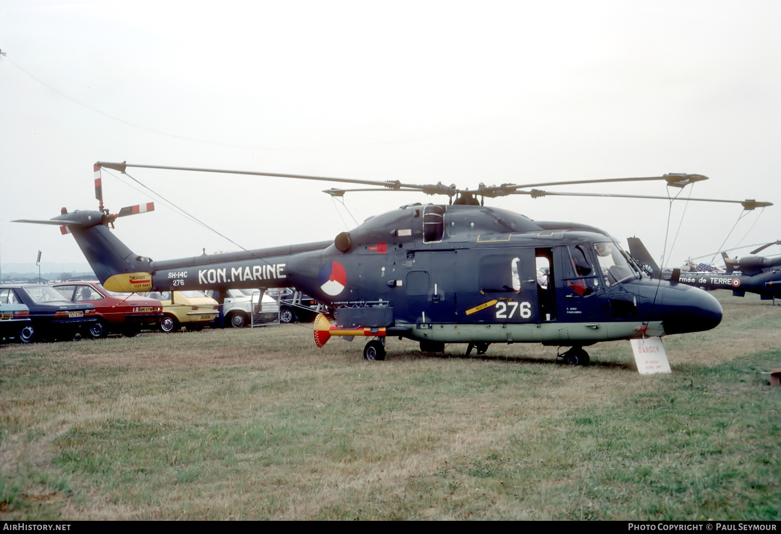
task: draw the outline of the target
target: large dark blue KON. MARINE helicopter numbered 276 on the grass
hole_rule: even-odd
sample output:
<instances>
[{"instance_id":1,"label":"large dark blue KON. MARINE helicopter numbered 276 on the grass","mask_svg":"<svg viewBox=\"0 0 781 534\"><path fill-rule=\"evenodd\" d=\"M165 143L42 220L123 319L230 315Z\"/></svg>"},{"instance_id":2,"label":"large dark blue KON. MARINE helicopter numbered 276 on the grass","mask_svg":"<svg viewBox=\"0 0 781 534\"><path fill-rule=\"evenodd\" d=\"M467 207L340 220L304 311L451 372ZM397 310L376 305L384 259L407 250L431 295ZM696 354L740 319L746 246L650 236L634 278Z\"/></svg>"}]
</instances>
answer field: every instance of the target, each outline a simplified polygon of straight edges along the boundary
<instances>
[{"instance_id":1,"label":"large dark blue KON. MARINE helicopter numbered 276 on the grass","mask_svg":"<svg viewBox=\"0 0 781 534\"><path fill-rule=\"evenodd\" d=\"M141 209L124 208L112 215L103 208L97 189L100 169L126 173L127 167L354 183L373 187L354 190L444 194L451 203L401 206L370 217L333 240L152 261L130 251L109 230L117 217ZM722 319L722 308L711 295L651 279L617 240L602 230L572 222L533 221L478 201L478 197L508 194L533 198L561 195L565 193L529 188L563 183L665 180L668 186L685 187L707 179L701 175L480 184L475 190L460 190L442 183L419 185L124 162L98 162L95 173L101 211L69 213L63 208L62 214L51 220L20 222L70 230L98 279L110 290L295 287L335 311L336 324L323 315L316 319L318 347L331 336L366 336L373 338L363 350L369 360L383 360L387 337L398 336L419 341L425 352L444 351L445 344L467 344L467 355L475 348L483 354L493 343L569 347L557 356L570 365L586 365L589 356L583 347L591 344L698 332L714 328ZM326 190L336 196L348 191L352 190Z\"/></svg>"}]
</instances>

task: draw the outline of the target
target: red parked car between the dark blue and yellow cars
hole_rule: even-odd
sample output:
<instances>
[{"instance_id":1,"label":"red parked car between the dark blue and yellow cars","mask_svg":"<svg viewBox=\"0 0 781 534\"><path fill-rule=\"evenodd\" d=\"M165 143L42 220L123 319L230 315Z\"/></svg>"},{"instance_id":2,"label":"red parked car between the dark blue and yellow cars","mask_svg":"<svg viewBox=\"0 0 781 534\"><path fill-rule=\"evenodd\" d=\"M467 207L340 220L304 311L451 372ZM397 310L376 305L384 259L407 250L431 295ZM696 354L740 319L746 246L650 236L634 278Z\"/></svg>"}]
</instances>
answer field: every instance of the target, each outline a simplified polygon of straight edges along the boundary
<instances>
[{"instance_id":1,"label":"red parked car between the dark blue and yellow cars","mask_svg":"<svg viewBox=\"0 0 781 534\"><path fill-rule=\"evenodd\" d=\"M97 280L52 285L70 301L95 305L98 321L90 326L87 336L96 340L109 333L137 336L141 329L157 329L162 318L160 301L133 293L109 291Z\"/></svg>"}]
</instances>

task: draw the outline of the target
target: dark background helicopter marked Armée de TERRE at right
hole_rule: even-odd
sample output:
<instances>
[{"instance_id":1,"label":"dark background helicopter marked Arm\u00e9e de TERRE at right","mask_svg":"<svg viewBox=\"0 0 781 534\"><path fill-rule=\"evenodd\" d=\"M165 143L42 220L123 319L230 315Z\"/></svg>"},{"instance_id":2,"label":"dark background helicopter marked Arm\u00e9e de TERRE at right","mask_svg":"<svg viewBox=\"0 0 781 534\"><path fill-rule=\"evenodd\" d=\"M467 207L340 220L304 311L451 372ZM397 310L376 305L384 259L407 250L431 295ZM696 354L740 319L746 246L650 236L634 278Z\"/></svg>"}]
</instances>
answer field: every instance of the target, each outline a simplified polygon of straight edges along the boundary
<instances>
[{"instance_id":1,"label":"dark background helicopter marked Arm\u00e9e de TERRE at right","mask_svg":"<svg viewBox=\"0 0 781 534\"><path fill-rule=\"evenodd\" d=\"M774 244L781 244L781 241L764 244L751 251L751 254L757 254ZM629 251L638 261L650 266L648 271L654 278L661 277L673 283L685 283L704 290L728 289L732 290L735 297L756 293L761 300L772 300L773 304L776 304L777 297L781 297L781 258L744 256L735 260L722 252L726 272L681 272L680 269L662 272L640 240L630 237Z\"/></svg>"}]
</instances>

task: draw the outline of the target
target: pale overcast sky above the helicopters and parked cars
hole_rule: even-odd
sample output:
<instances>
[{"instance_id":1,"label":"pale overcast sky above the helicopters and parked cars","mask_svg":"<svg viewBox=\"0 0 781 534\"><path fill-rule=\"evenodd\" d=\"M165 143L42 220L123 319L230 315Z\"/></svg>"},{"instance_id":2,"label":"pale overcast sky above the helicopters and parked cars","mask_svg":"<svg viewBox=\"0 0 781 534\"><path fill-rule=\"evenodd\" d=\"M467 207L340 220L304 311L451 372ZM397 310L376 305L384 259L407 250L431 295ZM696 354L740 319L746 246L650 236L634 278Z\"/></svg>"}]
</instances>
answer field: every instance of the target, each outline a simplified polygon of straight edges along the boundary
<instances>
[{"instance_id":1,"label":"pale overcast sky above the helicopters and parked cars","mask_svg":"<svg viewBox=\"0 0 781 534\"><path fill-rule=\"evenodd\" d=\"M718 250L733 226L725 247L776 240L779 15L775 0L2 0L0 261L34 262L38 250L82 261L55 226L10 221L97 208L96 161L459 187L700 173L710 180L682 197L776 205L738 220L740 205L713 203L487 203L641 237L657 258L669 219L672 264ZM356 193L342 206L320 192L329 183L128 173L246 248L332 239L353 217L447 202ZM137 254L238 249L113 174L112 212L155 200L155 212L117 222ZM658 182L548 189L667 194Z\"/></svg>"}]
</instances>

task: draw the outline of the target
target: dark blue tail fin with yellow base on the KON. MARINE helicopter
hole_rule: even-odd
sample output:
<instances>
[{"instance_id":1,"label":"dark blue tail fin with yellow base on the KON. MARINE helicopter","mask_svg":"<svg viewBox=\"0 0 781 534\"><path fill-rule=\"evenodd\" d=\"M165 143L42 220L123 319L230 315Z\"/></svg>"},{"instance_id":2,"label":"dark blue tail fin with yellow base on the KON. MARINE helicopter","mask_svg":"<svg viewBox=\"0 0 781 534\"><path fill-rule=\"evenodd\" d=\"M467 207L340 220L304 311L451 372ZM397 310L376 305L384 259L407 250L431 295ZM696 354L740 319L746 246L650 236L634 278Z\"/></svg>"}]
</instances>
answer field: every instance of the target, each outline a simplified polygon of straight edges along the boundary
<instances>
[{"instance_id":1,"label":"dark blue tail fin with yellow base on the KON. MARINE helicopter","mask_svg":"<svg viewBox=\"0 0 781 534\"><path fill-rule=\"evenodd\" d=\"M106 226L107 216L101 212L78 211L50 220L23 219L15 222L65 226L73 234L95 275L108 290L152 289L152 274L149 269L151 260L135 255L115 237Z\"/></svg>"}]
</instances>

